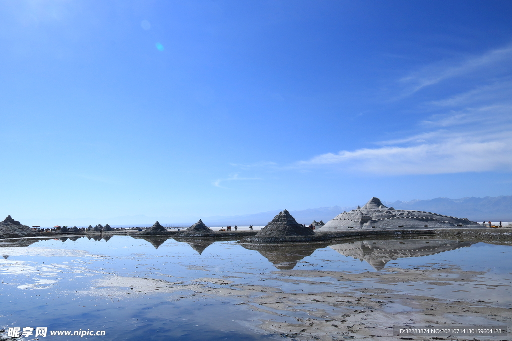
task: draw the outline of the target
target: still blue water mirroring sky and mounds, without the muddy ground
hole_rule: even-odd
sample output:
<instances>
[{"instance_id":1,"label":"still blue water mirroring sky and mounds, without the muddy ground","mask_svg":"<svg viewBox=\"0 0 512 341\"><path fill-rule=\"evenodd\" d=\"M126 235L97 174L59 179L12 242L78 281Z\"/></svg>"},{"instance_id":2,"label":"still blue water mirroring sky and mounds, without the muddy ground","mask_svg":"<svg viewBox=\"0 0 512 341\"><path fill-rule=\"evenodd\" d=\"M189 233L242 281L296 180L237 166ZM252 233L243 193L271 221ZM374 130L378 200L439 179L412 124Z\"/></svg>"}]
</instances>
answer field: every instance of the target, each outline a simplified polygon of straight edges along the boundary
<instances>
[{"instance_id":1,"label":"still blue water mirroring sky and mounds, without the muddy ground","mask_svg":"<svg viewBox=\"0 0 512 341\"><path fill-rule=\"evenodd\" d=\"M105 336L84 336L102 340L283 339L259 328L264 321L281 321L282 312L257 311L236 294L212 295L208 288L258 284L284 292L342 291L347 286L335 276L311 274L450 266L484 270L488 281L495 276L494 281L503 282L512 271L511 251L509 245L429 238L288 247L130 236L4 240L0 242L0 329L105 330ZM286 281L278 278L291 269L295 272ZM368 281L352 287L373 287ZM415 294L410 286L401 290ZM439 290L436 294L443 296ZM302 314L295 317L307 317Z\"/></svg>"}]
</instances>

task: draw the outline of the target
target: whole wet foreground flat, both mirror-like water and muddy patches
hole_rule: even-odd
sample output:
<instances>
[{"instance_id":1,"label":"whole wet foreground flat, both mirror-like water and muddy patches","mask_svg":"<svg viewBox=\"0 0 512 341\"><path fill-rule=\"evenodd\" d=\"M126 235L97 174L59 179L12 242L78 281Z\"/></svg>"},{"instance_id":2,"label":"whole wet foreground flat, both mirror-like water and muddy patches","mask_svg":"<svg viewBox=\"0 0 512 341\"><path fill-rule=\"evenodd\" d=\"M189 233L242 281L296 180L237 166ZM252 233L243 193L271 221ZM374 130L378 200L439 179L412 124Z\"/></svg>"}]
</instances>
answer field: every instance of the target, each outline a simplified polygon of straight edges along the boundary
<instances>
[{"instance_id":1,"label":"whole wet foreground flat, both mirror-like water and muddy patches","mask_svg":"<svg viewBox=\"0 0 512 341\"><path fill-rule=\"evenodd\" d=\"M389 327L406 323L511 324L506 243L107 238L1 241L0 329L89 328L105 330L101 339L126 340L332 340L392 339Z\"/></svg>"}]
</instances>

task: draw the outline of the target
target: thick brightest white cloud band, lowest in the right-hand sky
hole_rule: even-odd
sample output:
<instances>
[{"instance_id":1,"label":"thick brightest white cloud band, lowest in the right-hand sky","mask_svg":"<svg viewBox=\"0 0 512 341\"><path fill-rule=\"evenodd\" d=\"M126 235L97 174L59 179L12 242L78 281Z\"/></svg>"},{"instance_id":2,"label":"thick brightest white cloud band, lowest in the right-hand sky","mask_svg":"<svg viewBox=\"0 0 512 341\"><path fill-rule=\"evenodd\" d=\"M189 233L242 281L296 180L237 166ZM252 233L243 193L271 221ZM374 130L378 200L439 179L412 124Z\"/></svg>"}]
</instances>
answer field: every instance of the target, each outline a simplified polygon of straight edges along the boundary
<instances>
[{"instance_id":1,"label":"thick brightest white cloud band, lowest in the right-hand sky","mask_svg":"<svg viewBox=\"0 0 512 341\"><path fill-rule=\"evenodd\" d=\"M408 147L344 150L315 156L297 166L336 166L382 175L512 170L512 135L483 140L483 137L454 136L439 143Z\"/></svg>"}]
</instances>

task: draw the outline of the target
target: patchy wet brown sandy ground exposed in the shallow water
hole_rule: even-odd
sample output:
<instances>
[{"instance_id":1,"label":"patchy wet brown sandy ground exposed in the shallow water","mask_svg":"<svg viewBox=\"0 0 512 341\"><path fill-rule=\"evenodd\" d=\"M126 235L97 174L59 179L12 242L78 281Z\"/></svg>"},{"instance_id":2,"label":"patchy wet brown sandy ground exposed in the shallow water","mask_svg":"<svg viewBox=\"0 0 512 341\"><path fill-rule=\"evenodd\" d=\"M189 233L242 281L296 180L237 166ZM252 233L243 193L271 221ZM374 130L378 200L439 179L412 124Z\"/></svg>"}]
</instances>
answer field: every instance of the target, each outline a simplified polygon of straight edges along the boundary
<instances>
[{"instance_id":1,"label":"patchy wet brown sandy ground exposed in the shallow water","mask_svg":"<svg viewBox=\"0 0 512 341\"><path fill-rule=\"evenodd\" d=\"M512 322L512 274L490 279L484 271L432 266L358 274L287 270L272 271L266 276L253 285L236 284L229 279L232 276L197 278L192 284L113 276L98 286L103 294L109 288L108 294L116 296L179 290L190 293L173 300L230 297L238 304L274 316L260 321L260 328L295 340L396 340L409 336L393 336L393 326L510 326ZM283 285L275 285L276 281ZM308 284L311 290L283 289L294 283ZM413 339L510 340L511 336L439 335Z\"/></svg>"}]
</instances>

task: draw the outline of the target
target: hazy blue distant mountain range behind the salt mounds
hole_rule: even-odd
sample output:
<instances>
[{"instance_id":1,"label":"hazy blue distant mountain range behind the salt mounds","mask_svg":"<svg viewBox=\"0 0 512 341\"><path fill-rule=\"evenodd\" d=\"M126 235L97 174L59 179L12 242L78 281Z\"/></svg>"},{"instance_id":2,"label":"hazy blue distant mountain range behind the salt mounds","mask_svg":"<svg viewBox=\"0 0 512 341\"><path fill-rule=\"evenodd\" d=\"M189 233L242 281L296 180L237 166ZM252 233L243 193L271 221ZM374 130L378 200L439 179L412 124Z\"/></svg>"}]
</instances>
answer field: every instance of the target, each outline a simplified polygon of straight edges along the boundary
<instances>
[{"instance_id":1,"label":"hazy blue distant mountain range behind the salt mounds","mask_svg":"<svg viewBox=\"0 0 512 341\"><path fill-rule=\"evenodd\" d=\"M411 201L382 201L386 206L397 210L418 210L439 213L458 218L468 218L473 221L512 221L512 196L502 195L497 197L476 198L466 197L461 199L435 198L430 200ZM362 206L362 204L361 204ZM353 207L321 207L301 211L290 211L291 215L302 224L310 224L313 220L327 222L344 211L356 209ZM223 225L266 225L280 211L268 211L238 216L214 216L204 218L204 222L210 226Z\"/></svg>"}]
</instances>

